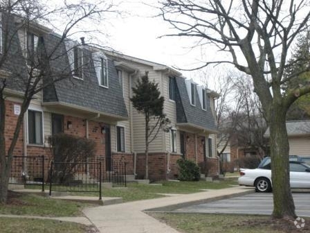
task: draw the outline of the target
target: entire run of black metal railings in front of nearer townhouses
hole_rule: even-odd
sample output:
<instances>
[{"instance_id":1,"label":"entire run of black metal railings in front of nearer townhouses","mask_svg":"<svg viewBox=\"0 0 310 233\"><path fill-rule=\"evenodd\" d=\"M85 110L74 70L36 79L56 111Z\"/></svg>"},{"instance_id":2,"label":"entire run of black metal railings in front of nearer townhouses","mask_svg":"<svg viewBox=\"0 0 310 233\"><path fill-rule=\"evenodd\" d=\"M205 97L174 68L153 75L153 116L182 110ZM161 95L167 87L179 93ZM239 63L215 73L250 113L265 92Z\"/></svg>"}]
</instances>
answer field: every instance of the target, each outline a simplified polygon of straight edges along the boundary
<instances>
[{"instance_id":1,"label":"entire run of black metal railings in front of nearer townhouses","mask_svg":"<svg viewBox=\"0 0 310 233\"><path fill-rule=\"evenodd\" d=\"M44 155L14 156L10 184L41 186L44 191L46 181L49 193L53 191L90 192L102 197L102 183L111 182L116 186L127 186L127 163L109 160L109 170L104 158L89 162L51 162Z\"/></svg>"}]
</instances>

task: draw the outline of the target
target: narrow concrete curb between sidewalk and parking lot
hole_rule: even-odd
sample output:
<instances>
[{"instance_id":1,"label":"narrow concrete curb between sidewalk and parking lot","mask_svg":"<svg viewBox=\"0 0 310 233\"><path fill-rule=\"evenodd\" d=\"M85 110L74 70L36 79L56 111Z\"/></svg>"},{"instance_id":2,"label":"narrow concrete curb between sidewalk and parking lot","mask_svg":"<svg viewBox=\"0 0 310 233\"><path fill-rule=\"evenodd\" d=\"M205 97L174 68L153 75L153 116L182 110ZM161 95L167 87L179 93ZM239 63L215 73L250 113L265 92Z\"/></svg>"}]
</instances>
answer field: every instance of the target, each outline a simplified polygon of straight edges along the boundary
<instances>
[{"instance_id":1,"label":"narrow concrete curb between sidewalk and parking lot","mask_svg":"<svg viewBox=\"0 0 310 233\"><path fill-rule=\"evenodd\" d=\"M184 207L189 207L191 205L199 205L199 204L205 204L208 202L212 202L215 200L223 200L223 199L227 199L227 198L235 198L237 196L244 196L246 194L250 194L250 193L255 193L254 189L250 189L248 191L244 191L241 193L233 193L233 194L226 194L223 196L217 196L214 198L204 198L204 199L200 199L200 200L192 200L189 202L182 202L182 203L178 203L178 204L174 204L174 205L166 205L163 207L156 207L156 208L152 208L152 209L144 209L143 212L172 212L175 209L180 209L180 208L184 208Z\"/></svg>"}]
</instances>

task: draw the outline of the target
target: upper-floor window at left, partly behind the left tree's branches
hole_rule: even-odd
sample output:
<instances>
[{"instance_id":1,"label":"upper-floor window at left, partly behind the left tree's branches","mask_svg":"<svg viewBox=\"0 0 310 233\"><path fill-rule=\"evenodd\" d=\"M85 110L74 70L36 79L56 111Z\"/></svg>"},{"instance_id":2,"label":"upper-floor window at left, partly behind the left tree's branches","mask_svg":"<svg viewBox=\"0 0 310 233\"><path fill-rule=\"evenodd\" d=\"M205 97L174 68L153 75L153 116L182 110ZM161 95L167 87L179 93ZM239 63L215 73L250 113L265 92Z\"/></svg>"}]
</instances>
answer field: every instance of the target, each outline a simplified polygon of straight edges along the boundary
<instances>
[{"instance_id":1,"label":"upper-floor window at left, partly behind the left tree's branches","mask_svg":"<svg viewBox=\"0 0 310 233\"><path fill-rule=\"evenodd\" d=\"M43 37L39 37L33 33L27 33L27 64L37 65L41 55L41 46Z\"/></svg>"}]
</instances>

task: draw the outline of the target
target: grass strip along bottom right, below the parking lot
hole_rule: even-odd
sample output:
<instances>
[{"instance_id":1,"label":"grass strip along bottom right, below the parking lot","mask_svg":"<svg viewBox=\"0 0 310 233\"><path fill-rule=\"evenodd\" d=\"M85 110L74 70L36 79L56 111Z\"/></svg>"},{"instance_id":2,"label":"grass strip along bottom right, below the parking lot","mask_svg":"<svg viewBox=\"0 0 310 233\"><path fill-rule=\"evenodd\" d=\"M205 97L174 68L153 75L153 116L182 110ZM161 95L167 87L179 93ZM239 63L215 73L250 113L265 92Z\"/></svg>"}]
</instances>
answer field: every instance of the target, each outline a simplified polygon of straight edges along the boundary
<instances>
[{"instance_id":1,"label":"grass strip along bottom right, below the parking lot","mask_svg":"<svg viewBox=\"0 0 310 233\"><path fill-rule=\"evenodd\" d=\"M298 230L293 221L272 221L268 216L163 213L149 213L149 215L184 233L310 232L307 224L302 230ZM309 223L310 218L305 221Z\"/></svg>"}]
</instances>

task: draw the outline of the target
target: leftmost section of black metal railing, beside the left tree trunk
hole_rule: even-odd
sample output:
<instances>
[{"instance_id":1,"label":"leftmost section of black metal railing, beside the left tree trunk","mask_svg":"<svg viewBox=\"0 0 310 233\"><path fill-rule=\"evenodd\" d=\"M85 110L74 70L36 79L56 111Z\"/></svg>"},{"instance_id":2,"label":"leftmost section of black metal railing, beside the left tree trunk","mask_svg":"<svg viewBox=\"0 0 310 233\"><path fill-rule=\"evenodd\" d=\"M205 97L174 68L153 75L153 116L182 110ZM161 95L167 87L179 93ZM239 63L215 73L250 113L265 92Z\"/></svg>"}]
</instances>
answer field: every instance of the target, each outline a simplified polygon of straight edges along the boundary
<instances>
[{"instance_id":1,"label":"leftmost section of black metal railing, beside the left tree trunk","mask_svg":"<svg viewBox=\"0 0 310 233\"><path fill-rule=\"evenodd\" d=\"M44 160L44 155L13 156L9 184L37 185L44 191Z\"/></svg>"}]
</instances>

